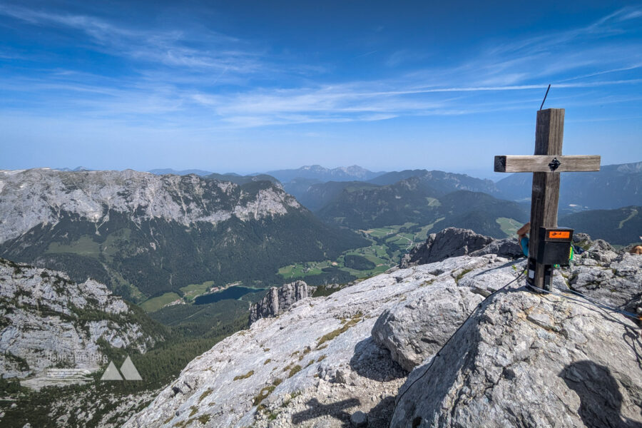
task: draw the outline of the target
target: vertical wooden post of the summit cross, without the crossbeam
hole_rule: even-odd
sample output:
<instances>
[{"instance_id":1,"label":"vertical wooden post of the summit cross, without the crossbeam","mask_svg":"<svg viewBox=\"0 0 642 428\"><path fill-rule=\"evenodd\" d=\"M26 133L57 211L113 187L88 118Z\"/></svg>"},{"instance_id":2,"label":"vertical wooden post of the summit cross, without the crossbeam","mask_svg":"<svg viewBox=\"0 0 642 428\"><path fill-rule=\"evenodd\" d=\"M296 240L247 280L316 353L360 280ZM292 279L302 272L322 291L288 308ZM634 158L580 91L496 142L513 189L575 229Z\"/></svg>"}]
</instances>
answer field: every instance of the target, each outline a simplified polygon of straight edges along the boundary
<instances>
[{"instance_id":1,"label":"vertical wooden post of the summit cross, without the crossbeam","mask_svg":"<svg viewBox=\"0 0 642 428\"><path fill-rule=\"evenodd\" d=\"M564 141L564 108L548 108L537 112L535 127L535 156L559 156ZM531 194L531 233L529 238L529 271L534 267L533 285L550 290L545 281L546 270L551 275L551 267L536 262L539 250L539 228L557 227L557 208L559 203L560 173L533 173L533 193ZM531 274L531 272L529 272Z\"/></svg>"}]
</instances>

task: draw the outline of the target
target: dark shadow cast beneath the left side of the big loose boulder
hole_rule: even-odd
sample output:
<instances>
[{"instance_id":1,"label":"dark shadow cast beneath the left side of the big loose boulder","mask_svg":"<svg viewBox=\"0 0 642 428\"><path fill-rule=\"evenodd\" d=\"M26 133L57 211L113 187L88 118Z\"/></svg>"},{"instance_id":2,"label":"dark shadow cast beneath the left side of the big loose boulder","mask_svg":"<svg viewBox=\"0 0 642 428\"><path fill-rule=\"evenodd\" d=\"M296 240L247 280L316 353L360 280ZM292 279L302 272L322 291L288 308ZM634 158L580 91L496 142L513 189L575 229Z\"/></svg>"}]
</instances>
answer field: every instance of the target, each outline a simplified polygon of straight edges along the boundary
<instances>
[{"instance_id":1,"label":"dark shadow cast beneath the left side of the big loose boulder","mask_svg":"<svg viewBox=\"0 0 642 428\"><path fill-rule=\"evenodd\" d=\"M350 359L350 368L360 376L378 382L406 377L402 367L392 360L389 350L380 348L372 336L355 346L355 355Z\"/></svg>"}]
</instances>

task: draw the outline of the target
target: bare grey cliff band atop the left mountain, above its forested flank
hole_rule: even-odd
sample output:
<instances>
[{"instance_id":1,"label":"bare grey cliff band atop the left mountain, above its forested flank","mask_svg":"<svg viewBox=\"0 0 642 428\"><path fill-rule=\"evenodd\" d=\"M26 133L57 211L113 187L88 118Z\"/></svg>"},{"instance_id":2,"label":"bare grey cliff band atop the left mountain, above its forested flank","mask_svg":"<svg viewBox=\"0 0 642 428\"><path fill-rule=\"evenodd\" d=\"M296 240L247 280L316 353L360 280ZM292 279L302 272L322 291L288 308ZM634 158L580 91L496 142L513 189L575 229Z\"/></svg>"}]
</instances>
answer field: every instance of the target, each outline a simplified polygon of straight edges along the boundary
<instances>
[{"instance_id":1,"label":"bare grey cliff band atop the left mountain, above its forested flank","mask_svg":"<svg viewBox=\"0 0 642 428\"><path fill-rule=\"evenodd\" d=\"M254 190L254 189L253 189ZM0 243L36 225L56 224L63 213L96 223L110 211L139 222L152 218L183 225L220 223L230 218L259 220L300 208L280 185L247 188L198 175L154 175L134 170L59 171L49 168L0 170L0 215L20 221L0 222Z\"/></svg>"}]
</instances>

